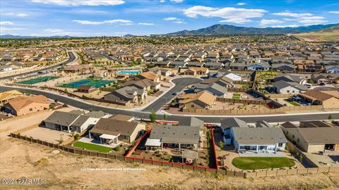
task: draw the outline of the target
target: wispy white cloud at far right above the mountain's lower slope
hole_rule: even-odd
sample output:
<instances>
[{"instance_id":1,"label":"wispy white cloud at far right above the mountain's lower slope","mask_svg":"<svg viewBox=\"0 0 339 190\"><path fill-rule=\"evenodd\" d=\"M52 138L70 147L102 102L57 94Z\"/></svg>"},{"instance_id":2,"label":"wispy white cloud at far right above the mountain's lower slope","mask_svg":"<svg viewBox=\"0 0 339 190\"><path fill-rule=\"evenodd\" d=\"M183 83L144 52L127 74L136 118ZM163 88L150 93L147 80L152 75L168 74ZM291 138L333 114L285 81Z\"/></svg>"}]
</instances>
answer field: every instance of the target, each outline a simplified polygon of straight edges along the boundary
<instances>
[{"instance_id":1,"label":"wispy white cloud at far right above the mountain's lower slope","mask_svg":"<svg viewBox=\"0 0 339 190\"><path fill-rule=\"evenodd\" d=\"M303 25L319 25L327 23L326 18L323 16L317 16L312 13L291 13L291 12L281 12L273 13L273 15L287 16L291 18L283 18L286 21L297 21Z\"/></svg>"}]
</instances>

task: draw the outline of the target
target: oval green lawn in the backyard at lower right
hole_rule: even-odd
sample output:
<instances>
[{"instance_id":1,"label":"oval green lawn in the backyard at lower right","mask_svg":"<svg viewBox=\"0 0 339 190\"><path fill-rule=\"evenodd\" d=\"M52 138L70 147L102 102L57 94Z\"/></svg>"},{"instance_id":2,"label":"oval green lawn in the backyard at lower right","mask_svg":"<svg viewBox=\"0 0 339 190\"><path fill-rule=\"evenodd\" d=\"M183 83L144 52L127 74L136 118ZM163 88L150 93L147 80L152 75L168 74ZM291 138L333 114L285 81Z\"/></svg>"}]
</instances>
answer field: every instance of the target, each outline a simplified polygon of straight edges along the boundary
<instances>
[{"instance_id":1,"label":"oval green lawn in the backyard at lower right","mask_svg":"<svg viewBox=\"0 0 339 190\"><path fill-rule=\"evenodd\" d=\"M259 170L278 167L292 167L293 160L285 157L237 157L232 164L242 170Z\"/></svg>"}]
</instances>

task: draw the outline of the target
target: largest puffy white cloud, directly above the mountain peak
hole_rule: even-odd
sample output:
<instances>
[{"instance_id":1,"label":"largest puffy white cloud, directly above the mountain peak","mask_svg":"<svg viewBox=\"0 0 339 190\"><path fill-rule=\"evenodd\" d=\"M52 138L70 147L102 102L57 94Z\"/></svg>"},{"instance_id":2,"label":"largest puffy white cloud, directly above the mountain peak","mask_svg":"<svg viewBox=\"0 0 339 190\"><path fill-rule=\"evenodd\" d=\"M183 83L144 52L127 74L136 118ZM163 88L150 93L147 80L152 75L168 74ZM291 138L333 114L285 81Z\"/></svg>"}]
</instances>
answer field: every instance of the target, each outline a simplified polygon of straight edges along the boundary
<instances>
[{"instance_id":1,"label":"largest puffy white cloud, directly above the mountain peak","mask_svg":"<svg viewBox=\"0 0 339 190\"><path fill-rule=\"evenodd\" d=\"M213 8L208 6L192 6L186 9L184 14L189 18L197 18L199 15L204 17L219 17L223 23L248 23L251 22L249 18L262 17L266 13L263 9L247 9L247 8Z\"/></svg>"}]
</instances>

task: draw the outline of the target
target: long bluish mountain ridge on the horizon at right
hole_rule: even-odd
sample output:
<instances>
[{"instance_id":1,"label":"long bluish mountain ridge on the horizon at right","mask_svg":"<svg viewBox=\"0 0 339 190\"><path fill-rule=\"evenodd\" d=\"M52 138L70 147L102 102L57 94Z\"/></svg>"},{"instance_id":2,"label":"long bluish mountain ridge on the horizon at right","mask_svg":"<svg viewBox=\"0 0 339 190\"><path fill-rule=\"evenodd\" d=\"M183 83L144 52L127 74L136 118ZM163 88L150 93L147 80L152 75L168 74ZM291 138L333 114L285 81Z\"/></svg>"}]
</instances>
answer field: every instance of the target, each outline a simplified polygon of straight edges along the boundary
<instances>
[{"instance_id":1,"label":"long bluish mountain ridge on the horizon at right","mask_svg":"<svg viewBox=\"0 0 339 190\"><path fill-rule=\"evenodd\" d=\"M225 35L225 34L287 34L287 33L312 32L338 25L339 23L331 25L310 25L302 27L237 27L234 25L212 25L210 27L201 28L199 30L182 30L179 32L172 32L166 35L187 36L187 35Z\"/></svg>"}]
</instances>

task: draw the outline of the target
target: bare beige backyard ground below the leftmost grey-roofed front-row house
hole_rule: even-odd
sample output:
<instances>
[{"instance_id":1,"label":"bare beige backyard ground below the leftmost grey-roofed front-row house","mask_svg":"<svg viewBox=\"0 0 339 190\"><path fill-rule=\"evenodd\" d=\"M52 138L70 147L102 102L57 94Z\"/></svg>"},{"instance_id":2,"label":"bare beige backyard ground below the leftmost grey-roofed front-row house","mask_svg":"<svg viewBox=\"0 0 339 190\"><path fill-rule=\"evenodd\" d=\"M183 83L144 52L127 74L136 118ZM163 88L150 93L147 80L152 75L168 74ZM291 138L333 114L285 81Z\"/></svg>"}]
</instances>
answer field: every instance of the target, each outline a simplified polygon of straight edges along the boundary
<instances>
[{"instance_id":1,"label":"bare beige backyard ground below the leftmost grey-roofed front-row house","mask_svg":"<svg viewBox=\"0 0 339 190\"><path fill-rule=\"evenodd\" d=\"M60 139L66 141L71 138L71 134L67 132L60 132L54 129L47 129L44 127L37 127L28 132L23 132L23 136L32 137L33 139L40 139L49 143L59 144Z\"/></svg>"}]
</instances>

